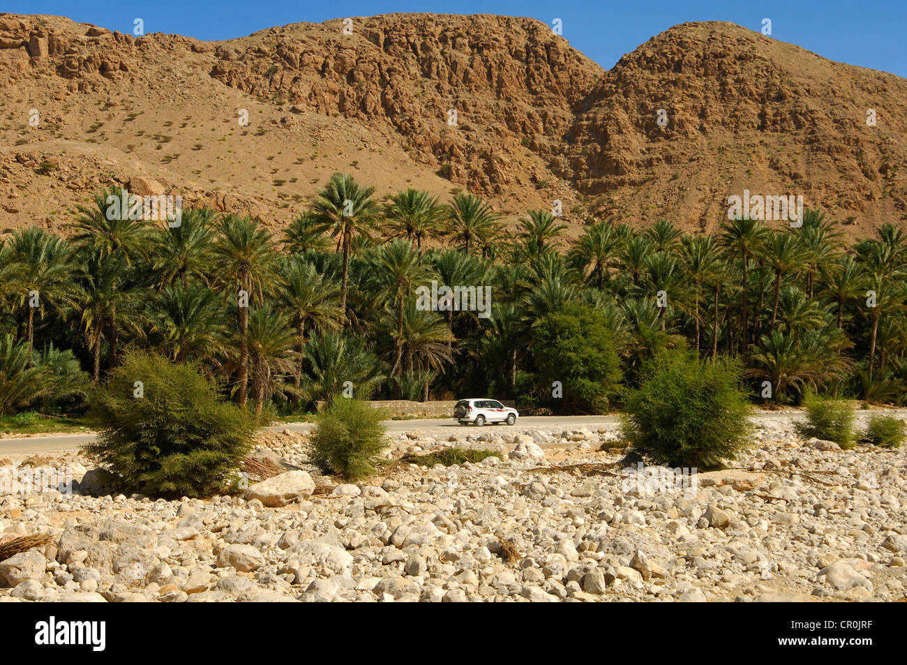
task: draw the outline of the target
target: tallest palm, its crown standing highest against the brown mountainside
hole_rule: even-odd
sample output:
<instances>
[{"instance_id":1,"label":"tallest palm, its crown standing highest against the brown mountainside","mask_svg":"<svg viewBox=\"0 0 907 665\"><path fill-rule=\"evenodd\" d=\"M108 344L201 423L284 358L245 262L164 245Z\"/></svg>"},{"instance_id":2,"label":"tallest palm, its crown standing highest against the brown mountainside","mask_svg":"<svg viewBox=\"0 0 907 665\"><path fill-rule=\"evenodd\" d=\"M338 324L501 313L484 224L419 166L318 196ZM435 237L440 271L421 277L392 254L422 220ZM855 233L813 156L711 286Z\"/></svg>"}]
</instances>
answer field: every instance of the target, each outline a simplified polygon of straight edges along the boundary
<instances>
[{"instance_id":1,"label":"tallest palm, its crown standing highest against the brown mountainside","mask_svg":"<svg viewBox=\"0 0 907 665\"><path fill-rule=\"evenodd\" d=\"M349 255L353 240L368 236L378 216L378 206L372 200L374 187L362 187L346 173L335 173L327 186L318 191L312 206L322 225L330 231L343 253L343 277L340 282L340 309L346 326L346 279L349 274Z\"/></svg>"}]
</instances>

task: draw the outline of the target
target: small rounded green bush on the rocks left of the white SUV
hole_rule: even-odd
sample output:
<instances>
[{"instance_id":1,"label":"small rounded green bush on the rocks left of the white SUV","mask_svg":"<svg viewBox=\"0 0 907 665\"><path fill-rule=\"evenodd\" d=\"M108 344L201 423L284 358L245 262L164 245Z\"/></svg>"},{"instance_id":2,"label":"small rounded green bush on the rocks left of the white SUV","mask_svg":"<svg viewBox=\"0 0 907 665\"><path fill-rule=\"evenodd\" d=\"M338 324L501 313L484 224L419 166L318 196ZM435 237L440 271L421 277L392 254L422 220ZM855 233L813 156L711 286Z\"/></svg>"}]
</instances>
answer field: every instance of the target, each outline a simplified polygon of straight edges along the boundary
<instances>
[{"instance_id":1,"label":"small rounded green bush on the rocks left of the white SUV","mask_svg":"<svg viewBox=\"0 0 907 665\"><path fill-rule=\"evenodd\" d=\"M385 449L382 416L367 402L336 397L317 416L312 463L349 480L375 473L375 456Z\"/></svg>"}]
</instances>

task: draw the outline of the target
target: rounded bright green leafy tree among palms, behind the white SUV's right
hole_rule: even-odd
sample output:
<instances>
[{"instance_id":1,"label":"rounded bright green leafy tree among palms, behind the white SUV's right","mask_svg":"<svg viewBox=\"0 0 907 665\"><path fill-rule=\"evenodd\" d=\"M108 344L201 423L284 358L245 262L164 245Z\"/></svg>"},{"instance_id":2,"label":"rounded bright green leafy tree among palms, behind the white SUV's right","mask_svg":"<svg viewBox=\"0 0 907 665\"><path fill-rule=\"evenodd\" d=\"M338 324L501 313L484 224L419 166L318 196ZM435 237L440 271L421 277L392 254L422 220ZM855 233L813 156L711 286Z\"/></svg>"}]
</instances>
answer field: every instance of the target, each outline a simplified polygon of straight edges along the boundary
<instances>
[{"instance_id":1,"label":"rounded bright green leafy tree among palms, behind the white SUV's right","mask_svg":"<svg viewBox=\"0 0 907 665\"><path fill-rule=\"evenodd\" d=\"M533 331L532 354L546 386L561 381L568 408L600 411L617 392L619 357L596 309L571 303L542 318Z\"/></svg>"}]
</instances>

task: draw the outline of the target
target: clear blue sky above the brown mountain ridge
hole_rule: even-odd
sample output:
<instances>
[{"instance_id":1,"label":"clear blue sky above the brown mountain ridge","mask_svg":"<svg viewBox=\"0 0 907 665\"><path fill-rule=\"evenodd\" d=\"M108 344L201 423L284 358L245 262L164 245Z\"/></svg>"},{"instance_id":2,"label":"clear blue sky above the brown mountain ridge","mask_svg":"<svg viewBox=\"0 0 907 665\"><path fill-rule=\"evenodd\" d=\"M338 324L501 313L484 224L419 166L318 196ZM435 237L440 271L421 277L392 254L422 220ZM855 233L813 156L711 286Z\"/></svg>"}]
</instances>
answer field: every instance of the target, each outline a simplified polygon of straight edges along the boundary
<instances>
[{"instance_id":1,"label":"clear blue sky above the brown mountain ridge","mask_svg":"<svg viewBox=\"0 0 907 665\"><path fill-rule=\"evenodd\" d=\"M438 14L502 14L532 16L551 24L563 22L563 36L571 45L602 66L610 68L649 37L685 21L730 21L760 30L772 21L772 37L803 46L830 60L896 73L907 78L907 2L904 0L623 0L612 2L304 2L296 0L205 0L148 3L80 0L4 0L3 10L15 14L63 15L74 21L132 33L140 17L146 32L185 34L198 39L228 39L271 27L331 18L389 12Z\"/></svg>"}]
</instances>

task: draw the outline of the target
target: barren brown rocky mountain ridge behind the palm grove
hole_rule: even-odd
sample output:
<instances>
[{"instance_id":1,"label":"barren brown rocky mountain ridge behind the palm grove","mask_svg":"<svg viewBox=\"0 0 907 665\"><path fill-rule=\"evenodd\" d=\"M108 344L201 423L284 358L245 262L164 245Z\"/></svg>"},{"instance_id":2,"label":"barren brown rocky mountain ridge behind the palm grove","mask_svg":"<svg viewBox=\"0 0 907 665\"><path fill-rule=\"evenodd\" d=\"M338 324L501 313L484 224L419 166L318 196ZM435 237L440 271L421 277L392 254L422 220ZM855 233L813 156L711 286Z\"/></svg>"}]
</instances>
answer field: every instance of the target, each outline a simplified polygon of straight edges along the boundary
<instances>
[{"instance_id":1,"label":"barren brown rocky mountain ridge behind the palm grove","mask_svg":"<svg viewBox=\"0 0 907 665\"><path fill-rule=\"evenodd\" d=\"M714 230L745 190L802 195L852 236L907 219L907 81L727 23L606 71L508 16L200 42L2 14L0 95L0 230L60 226L112 184L281 226L335 171L379 196L473 191L509 220L561 200L573 234L612 215Z\"/></svg>"}]
</instances>

